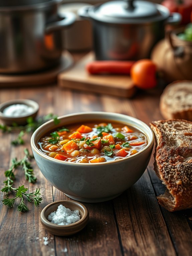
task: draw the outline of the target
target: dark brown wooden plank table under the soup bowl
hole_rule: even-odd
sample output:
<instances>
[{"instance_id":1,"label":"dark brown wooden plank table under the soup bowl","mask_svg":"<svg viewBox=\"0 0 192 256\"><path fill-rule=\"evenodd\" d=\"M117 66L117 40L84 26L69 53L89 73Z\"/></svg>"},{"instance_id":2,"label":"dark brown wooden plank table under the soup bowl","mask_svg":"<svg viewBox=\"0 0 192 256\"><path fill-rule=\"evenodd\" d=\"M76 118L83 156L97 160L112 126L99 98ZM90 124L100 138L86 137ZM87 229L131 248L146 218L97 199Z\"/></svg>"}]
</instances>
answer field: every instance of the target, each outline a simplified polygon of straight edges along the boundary
<instances>
[{"instance_id":1,"label":"dark brown wooden plank table under the soup bowl","mask_svg":"<svg viewBox=\"0 0 192 256\"><path fill-rule=\"evenodd\" d=\"M162 89L138 92L134 98L116 98L107 95L81 93L60 89L56 85L30 88L1 89L0 102L26 98L39 103L39 116L54 113L58 116L85 111L109 111L130 115L145 123L162 119L159 96ZM17 133L0 133L0 180L3 187L4 171L11 159L24 156L26 147L31 152L30 135L25 145L11 146ZM67 198L45 180L35 160L32 161L36 184L24 180L21 170L16 171L15 185L24 184L30 191L40 187L43 201L39 207L28 203L27 213L8 209L0 203L0 255L1 256L191 256L192 209L170 213L160 207L156 196L164 192L164 185L150 164L131 188L118 198L104 203L84 203L89 211L89 222L79 233L69 237L53 236L41 226L41 210L49 203ZM1 193L1 200L5 197ZM44 245L43 237L48 238Z\"/></svg>"}]
</instances>

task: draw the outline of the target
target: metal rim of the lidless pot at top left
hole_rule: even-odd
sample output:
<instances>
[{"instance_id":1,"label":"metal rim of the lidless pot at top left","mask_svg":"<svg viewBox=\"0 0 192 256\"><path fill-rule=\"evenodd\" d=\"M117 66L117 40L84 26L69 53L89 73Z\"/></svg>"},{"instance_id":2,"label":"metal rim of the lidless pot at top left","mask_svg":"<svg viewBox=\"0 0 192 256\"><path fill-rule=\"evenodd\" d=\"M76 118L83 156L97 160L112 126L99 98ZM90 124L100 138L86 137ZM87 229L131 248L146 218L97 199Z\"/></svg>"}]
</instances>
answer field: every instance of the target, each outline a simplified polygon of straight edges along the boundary
<instances>
[{"instance_id":1,"label":"metal rim of the lidless pot at top left","mask_svg":"<svg viewBox=\"0 0 192 256\"><path fill-rule=\"evenodd\" d=\"M29 5L20 5L20 6L0 6L0 13L9 13L9 12L21 12L21 11L31 11L38 10L50 7L55 4L60 4L62 0L48 0L43 3L35 3Z\"/></svg>"}]
</instances>

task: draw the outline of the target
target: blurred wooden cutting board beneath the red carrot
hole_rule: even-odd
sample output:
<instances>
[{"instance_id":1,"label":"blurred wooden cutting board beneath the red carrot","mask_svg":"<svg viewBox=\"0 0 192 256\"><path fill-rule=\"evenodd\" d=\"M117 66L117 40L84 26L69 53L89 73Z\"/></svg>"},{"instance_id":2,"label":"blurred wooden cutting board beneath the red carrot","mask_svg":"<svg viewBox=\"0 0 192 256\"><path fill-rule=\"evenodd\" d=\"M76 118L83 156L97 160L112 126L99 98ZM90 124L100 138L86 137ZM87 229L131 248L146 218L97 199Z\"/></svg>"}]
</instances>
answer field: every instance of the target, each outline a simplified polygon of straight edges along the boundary
<instances>
[{"instance_id":1,"label":"blurred wooden cutting board beneath the red carrot","mask_svg":"<svg viewBox=\"0 0 192 256\"><path fill-rule=\"evenodd\" d=\"M85 66L94 60L92 52L85 55L75 65L58 75L58 85L85 92L109 94L130 98L135 93L134 84L126 75L89 75Z\"/></svg>"}]
</instances>

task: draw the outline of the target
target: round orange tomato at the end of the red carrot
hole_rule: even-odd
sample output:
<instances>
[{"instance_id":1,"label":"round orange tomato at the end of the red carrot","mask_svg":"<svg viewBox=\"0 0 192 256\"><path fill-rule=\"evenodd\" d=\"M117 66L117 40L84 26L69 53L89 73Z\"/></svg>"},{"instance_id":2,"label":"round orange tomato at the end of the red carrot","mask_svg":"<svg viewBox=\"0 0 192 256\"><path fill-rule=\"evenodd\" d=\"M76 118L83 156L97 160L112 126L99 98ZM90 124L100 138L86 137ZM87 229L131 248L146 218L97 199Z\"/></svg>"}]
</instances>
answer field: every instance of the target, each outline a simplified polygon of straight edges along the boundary
<instances>
[{"instance_id":1,"label":"round orange tomato at the end of the red carrot","mask_svg":"<svg viewBox=\"0 0 192 256\"><path fill-rule=\"evenodd\" d=\"M136 61L130 71L135 86L141 89L151 89L157 85L157 67L150 59Z\"/></svg>"}]
</instances>

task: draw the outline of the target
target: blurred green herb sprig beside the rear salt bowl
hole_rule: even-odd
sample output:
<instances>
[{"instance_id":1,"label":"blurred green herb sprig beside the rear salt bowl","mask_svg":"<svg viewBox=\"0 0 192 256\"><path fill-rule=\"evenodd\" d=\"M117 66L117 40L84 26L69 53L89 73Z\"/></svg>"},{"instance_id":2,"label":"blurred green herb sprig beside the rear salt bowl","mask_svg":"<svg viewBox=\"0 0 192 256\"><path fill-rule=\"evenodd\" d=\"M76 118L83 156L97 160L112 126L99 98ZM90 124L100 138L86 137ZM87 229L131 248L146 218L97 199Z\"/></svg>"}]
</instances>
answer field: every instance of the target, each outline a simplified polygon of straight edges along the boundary
<instances>
[{"instance_id":1,"label":"blurred green herb sprig beside the rear salt bowl","mask_svg":"<svg viewBox=\"0 0 192 256\"><path fill-rule=\"evenodd\" d=\"M40 125L42 125L44 122L53 119L54 124L58 124L60 121L57 119L57 115L55 114L48 114L43 117L39 117L37 120L34 120L32 117L27 118L27 124L25 126L18 126L17 124L14 124L13 126L6 126L3 124L0 124L0 130L3 132L11 132L15 130L20 130L20 133L18 134L17 138L11 142L14 146L22 145L24 144L23 136L25 133L34 132Z\"/></svg>"}]
</instances>

